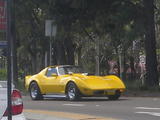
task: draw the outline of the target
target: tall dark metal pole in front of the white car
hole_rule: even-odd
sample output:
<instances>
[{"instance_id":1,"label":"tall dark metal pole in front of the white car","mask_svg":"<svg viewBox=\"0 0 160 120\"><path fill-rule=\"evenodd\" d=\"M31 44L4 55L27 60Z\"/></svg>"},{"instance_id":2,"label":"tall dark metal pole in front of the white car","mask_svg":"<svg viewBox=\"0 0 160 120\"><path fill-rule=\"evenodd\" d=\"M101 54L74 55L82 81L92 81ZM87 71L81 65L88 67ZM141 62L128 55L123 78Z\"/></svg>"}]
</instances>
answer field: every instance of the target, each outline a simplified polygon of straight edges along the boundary
<instances>
[{"instance_id":1,"label":"tall dark metal pole in front of the white car","mask_svg":"<svg viewBox=\"0 0 160 120\"><path fill-rule=\"evenodd\" d=\"M12 92L12 76L11 76L11 0L7 0L7 41L8 41L8 80L7 80L7 95L8 95L8 120L12 120L12 101L11 101L11 92Z\"/></svg>"}]
</instances>

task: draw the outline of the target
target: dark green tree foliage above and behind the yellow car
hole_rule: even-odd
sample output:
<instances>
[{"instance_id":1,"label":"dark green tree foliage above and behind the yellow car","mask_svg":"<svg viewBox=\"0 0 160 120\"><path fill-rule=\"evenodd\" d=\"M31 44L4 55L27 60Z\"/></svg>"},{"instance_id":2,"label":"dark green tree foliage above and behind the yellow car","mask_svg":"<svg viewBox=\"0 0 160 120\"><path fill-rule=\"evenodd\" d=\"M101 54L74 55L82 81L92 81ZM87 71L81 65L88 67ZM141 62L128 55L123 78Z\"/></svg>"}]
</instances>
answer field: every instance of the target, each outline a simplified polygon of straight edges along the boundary
<instances>
[{"instance_id":1,"label":"dark green tree foliage above and behind the yellow car","mask_svg":"<svg viewBox=\"0 0 160 120\"><path fill-rule=\"evenodd\" d=\"M118 61L119 47L126 62L130 55L138 61L139 51L144 51L142 0L19 0L15 4L21 73L33 74L44 68L50 41L45 36L46 19L54 19L57 24L57 35L52 44L53 64L78 61L76 64L95 72L97 40L100 42L101 73L108 72L108 60ZM159 0L156 5L158 41ZM133 41L137 42L135 51Z\"/></svg>"}]
</instances>

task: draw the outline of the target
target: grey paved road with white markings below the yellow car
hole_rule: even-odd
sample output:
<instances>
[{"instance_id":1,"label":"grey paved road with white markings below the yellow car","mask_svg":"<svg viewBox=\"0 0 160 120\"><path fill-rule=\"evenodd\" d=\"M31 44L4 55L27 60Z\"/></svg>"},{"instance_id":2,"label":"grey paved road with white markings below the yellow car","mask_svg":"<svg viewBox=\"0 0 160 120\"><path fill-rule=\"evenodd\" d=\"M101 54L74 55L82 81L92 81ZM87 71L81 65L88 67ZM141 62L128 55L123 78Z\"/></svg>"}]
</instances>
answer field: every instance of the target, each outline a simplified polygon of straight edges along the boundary
<instances>
[{"instance_id":1,"label":"grey paved road with white markings below the yellow car","mask_svg":"<svg viewBox=\"0 0 160 120\"><path fill-rule=\"evenodd\" d=\"M24 108L28 113L44 113L55 116L73 118L73 116L89 115L89 119L100 120L159 120L159 97L121 97L117 101L107 98L85 98L81 101L69 102L64 99L48 98L32 101L24 96ZM76 113L76 114L73 114ZM92 116L92 117L91 117Z\"/></svg>"}]
</instances>

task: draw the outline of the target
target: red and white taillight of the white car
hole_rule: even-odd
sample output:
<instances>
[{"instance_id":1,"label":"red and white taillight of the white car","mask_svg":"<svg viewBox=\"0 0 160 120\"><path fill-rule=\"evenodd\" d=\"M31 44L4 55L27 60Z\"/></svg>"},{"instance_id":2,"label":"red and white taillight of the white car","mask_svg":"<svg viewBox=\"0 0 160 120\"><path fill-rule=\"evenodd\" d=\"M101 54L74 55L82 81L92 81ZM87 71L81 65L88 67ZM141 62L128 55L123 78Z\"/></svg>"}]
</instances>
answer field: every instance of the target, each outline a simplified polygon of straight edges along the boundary
<instances>
[{"instance_id":1,"label":"red and white taillight of the white car","mask_svg":"<svg viewBox=\"0 0 160 120\"><path fill-rule=\"evenodd\" d=\"M18 90L13 90L12 92L12 115L18 115L23 111L23 102L21 93ZM8 115L8 110L6 110L4 116Z\"/></svg>"}]
</instances>

